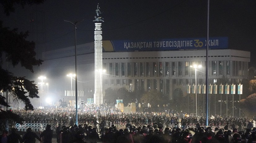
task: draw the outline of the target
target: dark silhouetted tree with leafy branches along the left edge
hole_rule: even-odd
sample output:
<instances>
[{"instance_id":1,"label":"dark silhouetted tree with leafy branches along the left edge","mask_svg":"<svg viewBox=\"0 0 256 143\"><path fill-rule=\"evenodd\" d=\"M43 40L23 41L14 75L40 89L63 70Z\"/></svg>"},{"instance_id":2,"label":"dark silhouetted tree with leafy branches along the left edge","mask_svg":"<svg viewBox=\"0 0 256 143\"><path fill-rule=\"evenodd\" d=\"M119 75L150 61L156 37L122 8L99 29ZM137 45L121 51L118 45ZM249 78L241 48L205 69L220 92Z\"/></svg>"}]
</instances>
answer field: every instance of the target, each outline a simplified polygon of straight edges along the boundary
<instances>
[{"instance_id":1,"label":"dark silhouetted tree with leafy branches along the left edge","mask_svg":"<svg viewBox=\"0 0 256 143\"><path fill-rule=\"evenodd\" d=\"M43 3L43 1L44 0L2 0L0 1L0 5L2 5L4 13L8 16L10 12L15 11L14 6L21 5L24 7L26 4L40 4ZM0 90L2 92L8 91L8 93L13 96L14 100L23 101L26 110L33 110L33 105L28 97L39 97L37 96L38 89L34 81L29 81L25 77L16 77L3 67L3 63L5 62L8 62L14 67L20 64L20 66L33 73L33 66L42 64L42 60L35 58L35 43L27 41L27 36L28 31L18 33L18 29L10 30L8 27L3 27L2 21L0 21ZM9 107L6 98L3 96L0 96L0 105ZM22 118L11 111L0 109L0 122L4 123L8 120L18 123L23 121Z\"/></svg>"}]
</instances>

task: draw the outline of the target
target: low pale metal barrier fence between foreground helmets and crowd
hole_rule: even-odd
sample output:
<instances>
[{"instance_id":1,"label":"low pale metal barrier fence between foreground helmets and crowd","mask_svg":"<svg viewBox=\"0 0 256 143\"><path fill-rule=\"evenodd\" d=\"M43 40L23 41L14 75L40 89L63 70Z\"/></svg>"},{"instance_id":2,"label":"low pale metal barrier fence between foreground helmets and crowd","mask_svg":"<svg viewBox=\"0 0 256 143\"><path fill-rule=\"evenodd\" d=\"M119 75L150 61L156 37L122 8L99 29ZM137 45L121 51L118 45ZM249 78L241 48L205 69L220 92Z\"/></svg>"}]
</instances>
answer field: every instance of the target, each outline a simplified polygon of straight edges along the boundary
<instances>
[{"instance_id":1,"label":"low pale metal barrier fence between foreground helmets and crowd","mask_svg":"<svg viewBox=\"0 0 256 143\"><path fill-rule=\"evenodd\" d=\"M39 132L39 131L45 130L46 125L51 125L51 129L56 131L56 128L57 128L58 124L59 124L59 122L24 122L23 124L16 123L15 127L18 131L26 131L26 129L28 127L30 127L33 131ZM60 124L69 126L69 124L67 124L67 123L60 123ZM78 122L78 125L84 125L84 124L94 126L93 123ZM112 123L108 122L106 127L111 127L111 125L112 125ZM115 126L116 126L117 130L125 129L126 128L126 123L115 124ZM143 124L140 124L138 126L143 126ZM174 128L174 126L175 125L173 125L173 124L169 124L169 125L163 124L163 128L169 127L171 130ZM179 127L181 128L181 124L179 124ZM204 126L204 127L206 127L206 126ZM220 125L220 126L212 126L212 129L215 129L216 127L217 128L224 128L224 126ZM97 128L98 128L98 131L99 131L100 127L99 127L98 124L97 124ZM196 128L196 125L188 125L187 128Z\"/></svg>"}]
</instances>

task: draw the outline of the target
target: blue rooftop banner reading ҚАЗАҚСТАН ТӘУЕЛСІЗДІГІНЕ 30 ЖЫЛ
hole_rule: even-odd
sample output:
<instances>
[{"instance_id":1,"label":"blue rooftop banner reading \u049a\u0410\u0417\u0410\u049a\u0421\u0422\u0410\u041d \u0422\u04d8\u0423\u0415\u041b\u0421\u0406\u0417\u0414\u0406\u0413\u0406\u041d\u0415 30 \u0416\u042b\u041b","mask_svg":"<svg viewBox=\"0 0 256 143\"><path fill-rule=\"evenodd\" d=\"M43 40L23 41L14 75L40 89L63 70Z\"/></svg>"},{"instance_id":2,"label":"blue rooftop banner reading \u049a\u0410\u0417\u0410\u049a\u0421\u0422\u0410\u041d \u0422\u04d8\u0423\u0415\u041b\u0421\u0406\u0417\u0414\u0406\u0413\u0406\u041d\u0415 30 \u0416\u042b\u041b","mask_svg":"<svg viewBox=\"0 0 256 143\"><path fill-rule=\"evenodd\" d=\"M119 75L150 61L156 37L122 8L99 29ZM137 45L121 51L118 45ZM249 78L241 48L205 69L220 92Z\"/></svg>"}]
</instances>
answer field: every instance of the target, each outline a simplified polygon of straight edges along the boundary
<instances>
[{"instance_id":1,"label":"blue rooftop banner reading \u049a\u0410\u0417\u0410\u049a\u0421\u0422\u0410\u041d \u0422\u04d8\u0423\u0415\u041b\u0421\u0406\u0417\u0414\u0406\u0413\u0406\u041d\u0415 30 \u0416\u042b\u041b","mask_svg":"<svg viewBox=\"0 0 256 143\"><path fill-rule=\"evenodd\" d=\"M228 49L228 37L209 38L209 49ZM103 41L104 51L164 51L206 49L206 38Z\"/></svg>"}]
</instances>

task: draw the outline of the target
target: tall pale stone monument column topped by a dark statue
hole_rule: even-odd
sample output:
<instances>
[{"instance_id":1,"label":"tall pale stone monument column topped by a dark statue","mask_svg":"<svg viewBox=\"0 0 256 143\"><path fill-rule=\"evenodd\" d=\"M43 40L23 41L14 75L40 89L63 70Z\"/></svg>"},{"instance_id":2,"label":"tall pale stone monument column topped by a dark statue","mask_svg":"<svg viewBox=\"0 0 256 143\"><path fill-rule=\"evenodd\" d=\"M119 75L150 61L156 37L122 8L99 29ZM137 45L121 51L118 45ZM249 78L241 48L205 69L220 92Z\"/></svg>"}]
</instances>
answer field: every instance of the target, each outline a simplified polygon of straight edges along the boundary
<instances>
[{"instance_id":1,"label":"tall pale stone monument column topped by a dark statue","mask_svg":"<svg viewBox=\"0 0 256 143\"><path fill-rule=\"evenodd\" d=\"M94 31L94 95L93 103L96 105L103 104L102 94L102 28L101 23L104 22L103 18L100 17L99 4L96 9L96 16L94 16L97 23L95 23Z\"/></svg>"}]
</instances>

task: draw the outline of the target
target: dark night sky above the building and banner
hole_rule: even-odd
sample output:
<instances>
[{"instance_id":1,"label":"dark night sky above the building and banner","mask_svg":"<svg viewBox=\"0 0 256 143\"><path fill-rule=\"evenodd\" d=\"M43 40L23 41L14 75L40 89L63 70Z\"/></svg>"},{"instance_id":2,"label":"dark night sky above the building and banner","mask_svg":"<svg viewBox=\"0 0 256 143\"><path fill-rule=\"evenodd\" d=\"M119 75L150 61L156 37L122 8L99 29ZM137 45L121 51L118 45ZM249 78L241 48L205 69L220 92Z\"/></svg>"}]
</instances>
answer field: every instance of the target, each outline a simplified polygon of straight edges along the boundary
<instances>
[{"instance_id":1,"label":"dark night sky above the building and banner","mask_svg":"<svg viewBox=\"0 0 256 143\"><path fill-rule=\"evenodd\" d=\"M41 52L94 42L94 16L101 8L103 40L150 40L206 37L207 1L202 0L47 0L41 5L16 5L10 16L0 14L3 25L30 31L28 40ZM210 0L209 37L228 37L228 48L251 52L256 66L256 1Z\"/></svg>"}]
</instances>

